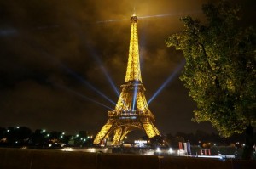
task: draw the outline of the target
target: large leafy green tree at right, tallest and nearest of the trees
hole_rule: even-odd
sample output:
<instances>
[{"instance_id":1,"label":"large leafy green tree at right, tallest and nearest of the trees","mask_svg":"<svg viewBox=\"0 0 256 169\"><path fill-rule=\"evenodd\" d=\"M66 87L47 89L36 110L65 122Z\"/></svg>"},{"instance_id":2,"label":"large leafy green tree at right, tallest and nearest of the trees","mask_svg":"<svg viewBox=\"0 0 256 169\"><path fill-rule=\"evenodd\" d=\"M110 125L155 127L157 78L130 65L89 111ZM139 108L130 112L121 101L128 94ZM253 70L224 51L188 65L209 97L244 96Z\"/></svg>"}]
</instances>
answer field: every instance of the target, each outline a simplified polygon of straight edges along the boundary
<instances>
[{"instance_id":1,"label":"large leafy green tree at right, tallest and nearest of the trees","mask_svg":"<svg viewBox=\"0 0 256 169\"><path fill-rule=\"evenodd\" d=\"M180 79L197 104L194 120L210 121L224 137L246 131L245 151L251 153L256 126L255 30L241 25L241 10L227 1L207 3L202 10L205 24L182 18L185 29L168 37L166 44L182 50L186 59Z\"/></svg>"}]
</instances>

